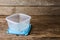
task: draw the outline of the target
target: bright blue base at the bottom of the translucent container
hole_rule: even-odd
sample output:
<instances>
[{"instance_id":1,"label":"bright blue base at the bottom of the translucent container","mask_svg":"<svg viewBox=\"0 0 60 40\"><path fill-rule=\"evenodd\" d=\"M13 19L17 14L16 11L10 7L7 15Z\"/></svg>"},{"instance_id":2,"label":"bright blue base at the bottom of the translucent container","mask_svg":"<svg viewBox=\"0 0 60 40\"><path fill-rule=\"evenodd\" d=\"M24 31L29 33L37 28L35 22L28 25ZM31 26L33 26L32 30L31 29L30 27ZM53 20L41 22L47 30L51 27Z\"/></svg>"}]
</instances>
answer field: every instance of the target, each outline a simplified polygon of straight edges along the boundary
<instances>
[{"instance_id":1,"label":"bright blue base at the bottom of the translucent container","mask_svg":"<svg viewBox=\"0 0 60 40\"><path fill-rule=\"evenodd\" d=\"M8 33L8 34L15 34L15 35L18 35L18 36L19 35L27 36L29 34L30 30L31 30L31 24L29 25L29 27L27 29L23 30L22 32L15 32L15 31L12 31L12 30L10 30L8 28L6 33Z\"/></svg>"}]
</instances>

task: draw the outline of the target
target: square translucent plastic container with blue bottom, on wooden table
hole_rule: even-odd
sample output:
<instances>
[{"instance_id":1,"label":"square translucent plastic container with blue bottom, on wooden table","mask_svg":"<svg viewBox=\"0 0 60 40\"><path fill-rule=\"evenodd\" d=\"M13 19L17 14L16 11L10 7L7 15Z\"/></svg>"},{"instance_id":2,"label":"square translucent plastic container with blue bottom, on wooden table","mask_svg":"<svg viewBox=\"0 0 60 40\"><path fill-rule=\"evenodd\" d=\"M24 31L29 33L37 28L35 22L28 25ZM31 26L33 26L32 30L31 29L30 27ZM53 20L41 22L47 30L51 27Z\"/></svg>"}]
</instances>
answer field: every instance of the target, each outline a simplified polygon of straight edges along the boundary
<instances>
[{"instance_id":1,"label":"square translucent plastic container with blue bottom, on wooden table","mask_svg":"<svg viewBox=\"0 0 60 40\"><path fill-rule=\"evenodd\" d=\"M13 14L6 17L8 22L8 33L10 34L19 34L19 35L28 35L31 24L31 16L26 14Z\"/></svg>"}]
</instances>

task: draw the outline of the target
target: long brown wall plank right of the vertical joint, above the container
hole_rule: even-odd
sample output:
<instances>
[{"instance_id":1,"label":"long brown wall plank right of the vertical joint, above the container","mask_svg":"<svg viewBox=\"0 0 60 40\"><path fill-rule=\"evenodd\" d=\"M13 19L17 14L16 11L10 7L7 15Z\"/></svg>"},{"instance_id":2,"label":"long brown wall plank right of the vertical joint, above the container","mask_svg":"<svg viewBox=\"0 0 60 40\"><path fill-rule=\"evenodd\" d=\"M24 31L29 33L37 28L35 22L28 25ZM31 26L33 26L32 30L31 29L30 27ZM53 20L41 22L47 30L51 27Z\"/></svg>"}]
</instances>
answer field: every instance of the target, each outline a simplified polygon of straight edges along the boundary
<instances>
[{"instance_id":1,"label":"long brown wall plank right of the vertical joint, above the container","mask_svg":"<svg viewBox=\"0 0 60 40\"><path fill-rule=\"evenodd\" d=\"M60 7L16 7L16 13L29 15L60 15Z\"/></svg>"}]
</instances>

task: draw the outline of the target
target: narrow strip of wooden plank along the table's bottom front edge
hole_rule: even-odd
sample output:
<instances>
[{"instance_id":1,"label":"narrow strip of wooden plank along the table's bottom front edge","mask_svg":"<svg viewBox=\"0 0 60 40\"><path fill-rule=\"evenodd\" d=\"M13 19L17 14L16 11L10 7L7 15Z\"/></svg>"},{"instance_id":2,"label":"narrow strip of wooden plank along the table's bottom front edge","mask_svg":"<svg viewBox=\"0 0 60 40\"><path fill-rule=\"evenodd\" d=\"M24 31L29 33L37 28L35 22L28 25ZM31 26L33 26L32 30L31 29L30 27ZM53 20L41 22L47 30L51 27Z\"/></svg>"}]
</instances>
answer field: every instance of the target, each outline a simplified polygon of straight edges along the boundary
<instances>
[{"instance_id":1,"label":"narrow strip of wooden plank along the table's bottom front edge","mask_svg":"<svg viewBox=\"0 0 60 40\"><path fill-rule=\"evenodd\" d=\"M21 38L21 37L16 37L16 38L0 38L1 40L60 40L60 37L46 37L46 38Z\"/></svg>"}]
</instances>

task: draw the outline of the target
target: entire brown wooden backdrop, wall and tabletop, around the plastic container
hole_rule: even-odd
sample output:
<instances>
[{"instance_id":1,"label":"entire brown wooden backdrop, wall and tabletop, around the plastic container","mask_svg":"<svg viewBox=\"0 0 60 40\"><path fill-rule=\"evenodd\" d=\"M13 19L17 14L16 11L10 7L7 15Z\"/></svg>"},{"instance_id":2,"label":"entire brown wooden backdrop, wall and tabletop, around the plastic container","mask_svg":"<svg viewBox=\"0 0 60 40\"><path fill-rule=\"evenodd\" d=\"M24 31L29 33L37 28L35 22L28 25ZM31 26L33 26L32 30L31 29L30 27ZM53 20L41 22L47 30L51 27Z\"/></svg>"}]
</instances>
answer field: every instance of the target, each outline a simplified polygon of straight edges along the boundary
<instances>
[{"instance_id":1,"label":"entire brown wooden backdrop, wall and tabletop, around the plastic container","mask_svg":"<svg viewBox=\"0 0 60 40\"><path fill-rule=\"evenodd\" d=\"M32 16L28 36L7 34L5 18L14 13ZM60 0L0 0L1 40L60 40Z\"/></svg>"}]
</instances>

